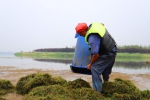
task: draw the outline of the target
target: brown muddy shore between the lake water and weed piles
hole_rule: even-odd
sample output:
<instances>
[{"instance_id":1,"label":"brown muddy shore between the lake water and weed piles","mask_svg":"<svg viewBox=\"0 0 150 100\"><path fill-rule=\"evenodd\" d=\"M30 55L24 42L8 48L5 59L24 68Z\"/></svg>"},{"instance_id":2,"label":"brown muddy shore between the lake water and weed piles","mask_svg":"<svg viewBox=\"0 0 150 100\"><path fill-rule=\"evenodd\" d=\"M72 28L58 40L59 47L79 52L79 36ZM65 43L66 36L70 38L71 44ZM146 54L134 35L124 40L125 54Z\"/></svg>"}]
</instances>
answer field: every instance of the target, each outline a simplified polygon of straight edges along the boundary
<instances>
[{"instance_id":1,"label":"brown muddy shore between the lake water and weed piles","mask_svg":"<svg viewBox=\"0 0 150 100\"><path fill-rule=\"evenodd\" d=\"M91 75L85 74L78 74L73 73L71 70L41 70L41 69L16 69L12 66L0 66L0 79L10 80L11 83L15 86L18 80L26 76L28 74L33 73L49 73L53 76L61 76L62 78L66 79L67 81L72 81L77 78L82 78L88 81L90 84ZM115 78L121 78L124 80L130 80L133 82L135 86L137 86L140 90L150 90L150 73L149 74L124 74L124 73L117 73L112 72L110 75L110 81L113 81ZM23 96L17 95L15 93L6 95L8 100L22 100Z\"/></svg>"}]
</instances>

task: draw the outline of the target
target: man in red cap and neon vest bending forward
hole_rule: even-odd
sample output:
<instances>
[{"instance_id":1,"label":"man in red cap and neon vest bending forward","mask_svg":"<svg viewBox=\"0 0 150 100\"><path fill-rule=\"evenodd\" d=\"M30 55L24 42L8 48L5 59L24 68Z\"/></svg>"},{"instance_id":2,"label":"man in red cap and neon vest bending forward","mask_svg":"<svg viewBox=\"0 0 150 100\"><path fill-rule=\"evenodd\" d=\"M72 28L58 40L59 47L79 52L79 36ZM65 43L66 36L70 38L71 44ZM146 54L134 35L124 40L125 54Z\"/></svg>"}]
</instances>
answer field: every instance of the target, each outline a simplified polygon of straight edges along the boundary
<instances>
[{"instance_id":1,"label":"man in red cap and neon vest bending forward","mask_svg":"<svg viewBox=\"0 0 150 100\"><path fill-rule=\"evenodd\" d=\"M76 36L85 37L85 41L89 44L92 58L87 69L92 73L92 87L101 93L102 79L107 82L111 74L113 64L115 62L117 47L116 42L108 33L104 24L93 22L87 26L86 23L78 23L75 28Z\"/></svg>"}]
</instances>

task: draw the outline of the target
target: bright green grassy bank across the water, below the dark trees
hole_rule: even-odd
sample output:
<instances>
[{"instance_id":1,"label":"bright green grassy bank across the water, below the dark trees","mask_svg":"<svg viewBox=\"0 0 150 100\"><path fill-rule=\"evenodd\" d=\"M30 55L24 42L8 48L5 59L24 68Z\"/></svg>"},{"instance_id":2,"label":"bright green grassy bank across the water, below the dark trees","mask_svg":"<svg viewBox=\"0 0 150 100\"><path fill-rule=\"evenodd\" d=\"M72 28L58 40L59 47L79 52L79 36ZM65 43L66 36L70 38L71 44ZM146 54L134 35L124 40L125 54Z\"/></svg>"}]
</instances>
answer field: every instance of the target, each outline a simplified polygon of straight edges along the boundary
<instances>
[{"instance_id":1,"label":"bright green grassy bank across the water, below the dark trees","mask_svg":"<svg viewBox=\"0 0 150 100\"><path fill-rule=\"evenodd\" d=\"M18 57L31 57L36 59L61 59L72 60L74 52L19 52L15 53ZM118 53L117 62L146 62L150 61L150 54L141 53Z\"/></svg>"}]
</instances>

